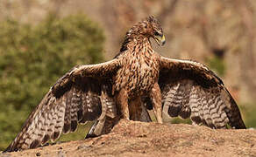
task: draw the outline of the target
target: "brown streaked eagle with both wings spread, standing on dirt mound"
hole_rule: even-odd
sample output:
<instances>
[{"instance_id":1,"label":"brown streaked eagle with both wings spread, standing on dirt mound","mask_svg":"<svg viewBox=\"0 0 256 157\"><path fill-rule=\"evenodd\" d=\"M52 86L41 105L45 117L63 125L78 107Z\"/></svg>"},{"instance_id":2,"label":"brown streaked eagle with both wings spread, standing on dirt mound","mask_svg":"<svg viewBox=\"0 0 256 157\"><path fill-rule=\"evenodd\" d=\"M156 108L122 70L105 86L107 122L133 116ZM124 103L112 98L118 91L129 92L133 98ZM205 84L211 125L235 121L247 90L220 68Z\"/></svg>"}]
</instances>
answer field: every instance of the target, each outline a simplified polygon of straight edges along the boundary
<instances>
[{"instance_id":1,"label":"brown streaked eagle with both wings spread, standing on dirt mound","mask_svg":"<svg viewBox=\"0 0 256 157\"><path fill-rule=\"evenodd\" d=\"M165 110L211 128L245 128L236 102L214 72L194 61L160 56L150 38L165 44L155 17L132 26L112 60L67 72L5 152L39 147L89 120L96 120L89 135L109 132L119 119L151 121L147 109L153 109L159 123Z\"/></svg>"}]
</instances>

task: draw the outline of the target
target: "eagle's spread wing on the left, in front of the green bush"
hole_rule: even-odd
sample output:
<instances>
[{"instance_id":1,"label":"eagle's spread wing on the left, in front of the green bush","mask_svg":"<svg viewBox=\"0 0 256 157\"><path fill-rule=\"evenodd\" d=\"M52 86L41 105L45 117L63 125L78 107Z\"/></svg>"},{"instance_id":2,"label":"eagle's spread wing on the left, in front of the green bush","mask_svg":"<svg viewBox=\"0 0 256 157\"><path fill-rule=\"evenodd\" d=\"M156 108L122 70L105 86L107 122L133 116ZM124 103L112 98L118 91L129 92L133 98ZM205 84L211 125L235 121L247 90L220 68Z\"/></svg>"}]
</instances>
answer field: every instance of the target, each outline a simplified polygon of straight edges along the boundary
<instances>
[{"instance_id":1,"label":"eagle's spread wing on the left, in front of the green bush","mask_svg":"<svg viewBox=\"0 0 256 157\"><path fill-rule=\"evenodd\" d=\"M39 147L61 132L75 132L78 123L104 117L106 104L115 109L110 80L118 68L117 59L75 66L46 93L5 152Z\"/></svg>"}]
</instances>

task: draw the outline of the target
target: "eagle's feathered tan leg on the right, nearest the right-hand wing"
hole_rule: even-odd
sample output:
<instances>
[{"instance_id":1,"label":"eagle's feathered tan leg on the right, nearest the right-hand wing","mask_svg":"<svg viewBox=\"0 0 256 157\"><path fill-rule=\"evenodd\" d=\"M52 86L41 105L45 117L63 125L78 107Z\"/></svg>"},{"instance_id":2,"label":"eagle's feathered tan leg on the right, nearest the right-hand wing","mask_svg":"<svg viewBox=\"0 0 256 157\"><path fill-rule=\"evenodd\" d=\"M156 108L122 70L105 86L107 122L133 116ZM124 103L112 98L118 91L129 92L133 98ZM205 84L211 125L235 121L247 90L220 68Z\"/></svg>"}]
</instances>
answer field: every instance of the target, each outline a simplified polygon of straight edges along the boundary
<instances>
[{"instance_id":1,"label":"eagle's feathered tan leg on the right, nearest the right-hand wing","mask_svg":"<svg viewBox=\"0 0 256 157\"><path fill-rule=\"evenodd\" d=\"M161 105L161 92L158 83L154 83L153 88L150 92L150 97L153 103L153 112L157 119L157 122L163 123L162 119L162 105Z\"/></svg>"}]
</instances>

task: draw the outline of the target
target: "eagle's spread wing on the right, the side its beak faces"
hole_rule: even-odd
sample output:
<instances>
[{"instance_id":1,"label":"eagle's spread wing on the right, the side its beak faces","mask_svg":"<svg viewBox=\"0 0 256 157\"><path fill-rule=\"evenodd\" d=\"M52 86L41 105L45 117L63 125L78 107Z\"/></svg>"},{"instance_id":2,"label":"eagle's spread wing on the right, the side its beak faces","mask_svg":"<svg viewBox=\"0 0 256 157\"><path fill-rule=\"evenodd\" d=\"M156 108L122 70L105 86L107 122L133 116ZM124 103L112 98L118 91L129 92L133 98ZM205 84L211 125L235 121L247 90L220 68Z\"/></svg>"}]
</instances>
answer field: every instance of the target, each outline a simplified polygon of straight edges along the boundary
<instances>
[{"instance_id":1,"label":"eagle's spread wing on the right, the side its beak faces","mask_svg":"<svg viewBox=\"0 0 256 157\"><path fill-rule=\"evenodd\" d=\"M160 58L163 111L211 128L245 128L238 106L222 80L206 66L189 60Z\"/></svg>"}]
</instances>

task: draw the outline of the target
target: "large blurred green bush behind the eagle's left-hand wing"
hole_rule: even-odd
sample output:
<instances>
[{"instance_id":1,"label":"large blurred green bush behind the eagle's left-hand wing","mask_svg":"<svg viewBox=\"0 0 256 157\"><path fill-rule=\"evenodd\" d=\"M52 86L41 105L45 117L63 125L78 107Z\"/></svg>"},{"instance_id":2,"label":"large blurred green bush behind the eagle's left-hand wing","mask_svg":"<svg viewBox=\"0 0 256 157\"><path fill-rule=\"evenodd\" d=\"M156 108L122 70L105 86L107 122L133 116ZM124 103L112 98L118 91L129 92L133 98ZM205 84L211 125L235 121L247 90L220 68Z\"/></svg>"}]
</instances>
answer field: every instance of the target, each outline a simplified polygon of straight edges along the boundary
<instances>
[{"instance_id":1,"label":"large blurred green bush behind the eagle's left-hand wing","mask_svg":"<svg viewBox=\"0 0 256 157\"><path fill-rule=\"evenodd\" d=\"M103 61L103 30L84 15L46 17L36 26L0 23L0 149L50 86L75 65ZM85 134L83 134L85 136Z\"/></svg>"}]
</instances>

